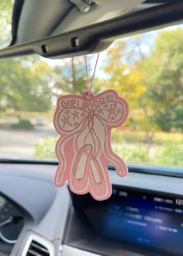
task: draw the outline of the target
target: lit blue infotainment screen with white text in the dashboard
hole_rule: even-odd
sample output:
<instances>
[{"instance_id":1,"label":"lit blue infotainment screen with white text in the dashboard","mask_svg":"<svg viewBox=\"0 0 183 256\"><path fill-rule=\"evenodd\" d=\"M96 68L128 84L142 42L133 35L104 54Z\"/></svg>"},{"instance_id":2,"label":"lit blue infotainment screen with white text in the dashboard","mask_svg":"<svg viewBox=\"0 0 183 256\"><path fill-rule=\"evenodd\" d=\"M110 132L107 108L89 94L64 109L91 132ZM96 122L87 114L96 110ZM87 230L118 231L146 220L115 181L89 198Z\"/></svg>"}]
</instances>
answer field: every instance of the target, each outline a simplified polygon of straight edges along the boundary
<instances>
[{"instance_id":1,"label":"lit blue infotainment screen with white text in the dashboard","mask_svg":"<svg viewBox=\"0 0 183 256\"><path fill-rule=\"evenodd\" d=\"M183 254L183 198L114 188L105 202L83 208L102 237Z\"/></svg>"}]
</instances>

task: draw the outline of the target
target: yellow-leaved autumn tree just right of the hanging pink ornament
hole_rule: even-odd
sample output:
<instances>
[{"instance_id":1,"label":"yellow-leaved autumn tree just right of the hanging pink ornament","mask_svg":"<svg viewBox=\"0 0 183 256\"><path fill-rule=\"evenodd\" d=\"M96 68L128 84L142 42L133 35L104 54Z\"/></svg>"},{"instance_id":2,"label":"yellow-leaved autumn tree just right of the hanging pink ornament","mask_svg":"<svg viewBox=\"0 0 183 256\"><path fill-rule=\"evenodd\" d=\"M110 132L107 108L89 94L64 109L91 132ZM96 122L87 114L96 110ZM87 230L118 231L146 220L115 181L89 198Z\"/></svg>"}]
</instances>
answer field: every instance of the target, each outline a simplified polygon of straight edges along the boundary
<instances>
[{"instance_id":1,"label":"yellow-leaved autumn tree just right of the hanging pink ornament","mask_svg":"<svg viewBox=\"0 0 183 256\"><path fill-rule=\"evenodd\" d=\"M115 88L129 102L130 112L126 123L131 130L146 131L147 143L150 144L155 126L151 121L152 107L142 70L142 62L146 57L140 49L142 42L143 36L134 36L133 40L118 41L109 50L109 62L105 67L109 75L106 87Z\"/></svg>"}]
</instances>

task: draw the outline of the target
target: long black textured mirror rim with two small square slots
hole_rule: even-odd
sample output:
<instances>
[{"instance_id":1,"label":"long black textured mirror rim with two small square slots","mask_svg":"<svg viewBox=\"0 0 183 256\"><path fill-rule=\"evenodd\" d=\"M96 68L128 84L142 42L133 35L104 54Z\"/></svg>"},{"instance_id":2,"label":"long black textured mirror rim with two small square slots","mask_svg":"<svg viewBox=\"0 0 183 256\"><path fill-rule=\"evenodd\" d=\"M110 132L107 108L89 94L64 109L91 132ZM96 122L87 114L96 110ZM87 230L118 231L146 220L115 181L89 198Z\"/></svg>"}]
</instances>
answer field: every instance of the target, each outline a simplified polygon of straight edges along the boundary
<instances>
[{"instance_id":1,"label":"long black textured mirror rim with two small square slots","mask_svg":"<svg viewBox=\"0 0 183 256\"><path fill-rule=\"evenodd\" d=\"M36 40L18 46L0 50L0 58L17 57L27 54L39 54L43 57L74 57L105 50L116 36L129 36L132 33L142 33L148 29L168 26L183 20L183 2L174 1L165 5L157 5L150 9L129 13L105 22L75 29L58 36L50 36L43 40ZM73 47L71 40L78 37L78 47ZM110 43L96 50L98 44L111 39ZM42 46L46 45L47 52Z\"/></svg>"}]
</instances>

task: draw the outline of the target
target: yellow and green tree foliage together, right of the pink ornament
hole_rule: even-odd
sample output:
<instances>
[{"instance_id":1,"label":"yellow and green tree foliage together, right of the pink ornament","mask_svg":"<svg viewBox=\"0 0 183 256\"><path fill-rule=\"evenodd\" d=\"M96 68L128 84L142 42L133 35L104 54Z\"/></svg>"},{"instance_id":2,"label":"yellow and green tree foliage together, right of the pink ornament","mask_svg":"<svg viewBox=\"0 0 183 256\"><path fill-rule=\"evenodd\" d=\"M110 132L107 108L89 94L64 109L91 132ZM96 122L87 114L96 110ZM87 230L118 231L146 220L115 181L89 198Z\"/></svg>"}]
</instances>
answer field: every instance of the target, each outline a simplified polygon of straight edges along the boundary
<instances>
[{"instance_id":1,"label":"yellow and green tree foliage together, right of the pink ornament","mask_svg":"<svg viewBox=\"0 0 183 256\"><path fill-rule=\"evenodd\" d=\"M158 130L183 130L183 29L159 33L149 57L141 50L145 36L116 42L108 51L105 88L112 85L128 100L126 124L147 131L151 140Z\"/></svg>"}]
</instances>

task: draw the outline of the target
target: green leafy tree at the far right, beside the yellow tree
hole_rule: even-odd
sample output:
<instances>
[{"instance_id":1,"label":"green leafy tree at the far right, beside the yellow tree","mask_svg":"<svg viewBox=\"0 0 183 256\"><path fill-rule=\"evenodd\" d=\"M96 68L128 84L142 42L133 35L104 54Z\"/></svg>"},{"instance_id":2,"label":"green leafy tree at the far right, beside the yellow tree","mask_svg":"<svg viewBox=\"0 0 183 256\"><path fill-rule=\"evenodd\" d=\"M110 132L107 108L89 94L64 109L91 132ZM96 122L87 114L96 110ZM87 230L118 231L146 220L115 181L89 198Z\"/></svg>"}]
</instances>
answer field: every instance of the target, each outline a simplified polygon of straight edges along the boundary
<instances>
[{"instance_id":1,"label":"green leafy tree at the far right, beside the yellow tree","mask_svg":"<svg viewBox=\"0 0 183 256\"><path fill-rule=\"evenodd\" d=\"M183 130L183 29L163 31L154 51L143 61L153 122L164 131Z\"/></svg>"}]
</instances>

